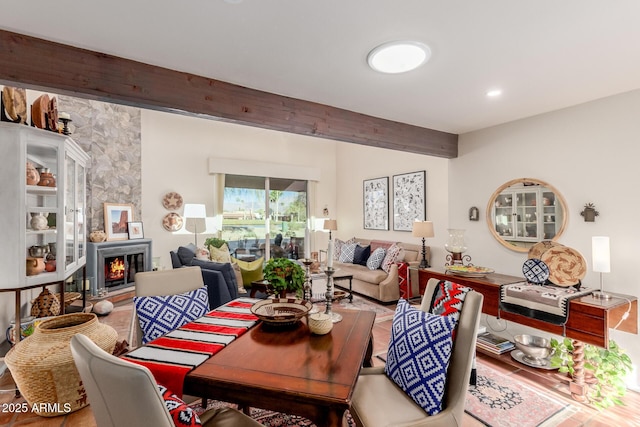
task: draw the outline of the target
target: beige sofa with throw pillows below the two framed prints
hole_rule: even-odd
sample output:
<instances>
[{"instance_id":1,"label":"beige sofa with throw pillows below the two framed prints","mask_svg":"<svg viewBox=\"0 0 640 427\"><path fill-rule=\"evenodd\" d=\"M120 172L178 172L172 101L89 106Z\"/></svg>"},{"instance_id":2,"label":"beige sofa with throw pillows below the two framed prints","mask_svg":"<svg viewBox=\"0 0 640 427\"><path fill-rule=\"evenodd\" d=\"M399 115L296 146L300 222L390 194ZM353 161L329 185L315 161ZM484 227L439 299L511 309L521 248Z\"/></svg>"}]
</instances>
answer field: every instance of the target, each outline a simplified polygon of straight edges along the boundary
<instances>
[{"instance_id":1,"label":"beige sofa with throw pillows below the two framed prints","mask_svg":"<svg viewBox=\"0 0 640 427\"><path fill-rule=\"evenodd\" d=\"M360 263L341 262L344 261L343 249L344 245L357 243L358 252L366 254L366 247L369 247L369 255L366 260L360 259ZM388 271L382 269L382 265L378 268L371 269L366 263L371 258L377 248L388 251L393 245L400 248L395 259L387 260ZM398 263L406 262L410 266L417 266L422 259L422 245L414 245L410 243L392 242L387 240L369 240L354 237L347 241L335 239L334 241L334 262L333 268L338 270L336 276L353 275L352 290L358 294L376 299L382 303L397 302L400 298ZM362 250L364 248L364 250ZM385 253L385 257L388 253ZM426 248L426 257L429 259L429 247ZM390 261L390 262L389 262ZM412 272L417 273L417 272ZM412 277L412 295L418 295L417 274ZM348 286L346 282L338 282L338 286Z\"/></svg>"}]
</instances>

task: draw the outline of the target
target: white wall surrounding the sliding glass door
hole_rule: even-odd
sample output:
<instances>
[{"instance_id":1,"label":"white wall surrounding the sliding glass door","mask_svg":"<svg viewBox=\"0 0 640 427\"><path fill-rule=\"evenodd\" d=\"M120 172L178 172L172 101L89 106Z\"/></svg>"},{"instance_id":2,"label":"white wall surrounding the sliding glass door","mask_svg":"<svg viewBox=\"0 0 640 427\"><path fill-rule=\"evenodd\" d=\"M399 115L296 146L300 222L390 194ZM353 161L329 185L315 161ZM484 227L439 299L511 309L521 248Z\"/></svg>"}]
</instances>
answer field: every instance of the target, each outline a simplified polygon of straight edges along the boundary
<instances>
[{"instance_id":1,"label":"white wall surrounding the sliding glass door","mask_svg":"<svg viewBox=\"0 0 640 427\"><path fill-rule=\"evenodd\" d=\"M162 227L169 212L162 197L170 191L185 203L204 203L213 215L213 176L210 157L293 164L320 169L317 203L335 212L336 142L255 127L156 111L142 112L142 221L145 237L153 239L153 256L171 268L169 251L194 241L193 234L173 234ZM182 209L176 211L182 214ZM205 236L198 237L198 244Z\"/></svg>"}]
</instances>

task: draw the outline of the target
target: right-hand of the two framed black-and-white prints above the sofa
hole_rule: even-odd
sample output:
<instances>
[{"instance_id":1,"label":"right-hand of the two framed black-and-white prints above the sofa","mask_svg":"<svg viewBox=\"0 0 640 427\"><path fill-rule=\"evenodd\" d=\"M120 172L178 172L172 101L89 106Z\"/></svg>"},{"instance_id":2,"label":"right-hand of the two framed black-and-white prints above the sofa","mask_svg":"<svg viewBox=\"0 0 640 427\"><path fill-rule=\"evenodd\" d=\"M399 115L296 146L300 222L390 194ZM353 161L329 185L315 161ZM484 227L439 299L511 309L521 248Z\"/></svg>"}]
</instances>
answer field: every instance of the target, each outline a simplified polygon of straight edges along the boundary
<instances>
[{"instance_id":1,"label":"right-hand of the two framed black-and-white prints above the sofa","mask_svg":"<svg viewBox=\"0 0 640 427\"><path fill-rule=\"evenodd\" d=\"M413 222L426 219L426 171L393 176L393 229L411 231Z\"/></svg>"}]
</instances>

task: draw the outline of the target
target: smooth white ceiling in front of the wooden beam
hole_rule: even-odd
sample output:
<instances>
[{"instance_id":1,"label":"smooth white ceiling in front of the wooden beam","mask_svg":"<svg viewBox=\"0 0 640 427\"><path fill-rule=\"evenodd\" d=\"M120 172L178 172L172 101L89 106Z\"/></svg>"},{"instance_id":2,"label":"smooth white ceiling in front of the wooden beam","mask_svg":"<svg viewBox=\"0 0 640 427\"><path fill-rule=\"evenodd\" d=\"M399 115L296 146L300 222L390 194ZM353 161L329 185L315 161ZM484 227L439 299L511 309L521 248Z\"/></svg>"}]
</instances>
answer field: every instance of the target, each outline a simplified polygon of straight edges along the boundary
<instances>
[{"instance_id":1,"label":"smooth white ceiling in front of the wooden beam","mask_svg":"<svg viewBox=\"0 0 640 427\"><path fill-rule=\"evenodd\" d=\"M3 2L0 29L452 133L640 88L638 0L232 3ZM369 50L398 39L431 60L369 69Z\"/></svg>"}]
</instances>

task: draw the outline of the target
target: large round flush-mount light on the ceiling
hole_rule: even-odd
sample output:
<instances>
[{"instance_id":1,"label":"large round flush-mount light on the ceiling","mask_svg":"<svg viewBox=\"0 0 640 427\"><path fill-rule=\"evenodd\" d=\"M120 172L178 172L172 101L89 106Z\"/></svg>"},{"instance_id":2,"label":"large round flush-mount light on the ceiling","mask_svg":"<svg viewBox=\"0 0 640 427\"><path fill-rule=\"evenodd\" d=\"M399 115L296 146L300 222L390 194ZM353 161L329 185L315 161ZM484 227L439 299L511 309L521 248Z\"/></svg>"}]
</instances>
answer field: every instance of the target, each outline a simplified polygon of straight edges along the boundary
<instances>
[{"instance_id":1,"label":"large round flush-mount light on the ceiling","mask_svg":"<svg viewBox=\"0 0 640 427\"><path fill-rule=\"evenodd\" d=\"M381 44L367 56L369 66L381 73L398 74L415 70L431 57L431 49L416 41Z\"/></svg>"}]
</instances>

